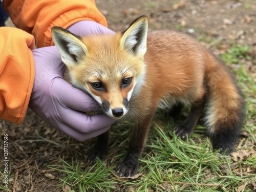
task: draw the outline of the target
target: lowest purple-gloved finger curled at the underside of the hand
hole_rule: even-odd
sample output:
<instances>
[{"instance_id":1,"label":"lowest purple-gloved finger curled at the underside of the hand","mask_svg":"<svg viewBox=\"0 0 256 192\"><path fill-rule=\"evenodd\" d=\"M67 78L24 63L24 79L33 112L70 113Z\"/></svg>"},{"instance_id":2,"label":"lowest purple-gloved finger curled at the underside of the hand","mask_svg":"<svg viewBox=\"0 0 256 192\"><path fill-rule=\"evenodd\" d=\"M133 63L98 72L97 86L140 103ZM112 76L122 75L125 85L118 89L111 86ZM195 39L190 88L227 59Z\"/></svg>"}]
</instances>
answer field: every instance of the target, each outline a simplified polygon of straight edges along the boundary
<instances>
[{"instance_id":1,"label":"lowest purple-gloved finger curled at the underside of the hand","mask_svg":"<svg viewBox=\"0 0 256 192\"><path fill-rule=\"evenodd\" d=\"M60 127L60 131L65 133L66 135L78 140L78 141L86 141L89 139L92 139L94 137L97 137L103 133L105 133L106 131L108 131L110 129L110 126L104 127L100 130L96 130L91 132L90 134L83 134L79 131L76 131L74 129L72 129L70 126L66 125L66 124L62 124Z\"/></svg>"}]
</instances>

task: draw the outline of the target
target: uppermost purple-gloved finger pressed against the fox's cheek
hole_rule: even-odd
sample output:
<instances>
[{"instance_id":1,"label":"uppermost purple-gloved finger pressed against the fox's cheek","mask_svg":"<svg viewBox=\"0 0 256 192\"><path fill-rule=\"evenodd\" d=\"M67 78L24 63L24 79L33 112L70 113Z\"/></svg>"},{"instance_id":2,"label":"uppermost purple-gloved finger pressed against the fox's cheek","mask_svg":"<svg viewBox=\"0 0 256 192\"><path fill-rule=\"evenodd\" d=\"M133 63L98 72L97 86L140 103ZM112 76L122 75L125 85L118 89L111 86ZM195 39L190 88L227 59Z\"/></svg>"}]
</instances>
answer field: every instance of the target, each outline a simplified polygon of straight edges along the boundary
<instances>
[{"instance_id":1,"label":"uppermost purple-gloved finger pressed against the fox's cheek","mask_svg":"<svg viewBox=\"0 0 256 192\"><path fill-rule=\"evenodd\" d=\"M60 102L67 108L82 112L95 112L101 109L89 94L74 88L61 78L54 81L52 90L52 94L58 96Z\"/></svg>"}]
</instances>

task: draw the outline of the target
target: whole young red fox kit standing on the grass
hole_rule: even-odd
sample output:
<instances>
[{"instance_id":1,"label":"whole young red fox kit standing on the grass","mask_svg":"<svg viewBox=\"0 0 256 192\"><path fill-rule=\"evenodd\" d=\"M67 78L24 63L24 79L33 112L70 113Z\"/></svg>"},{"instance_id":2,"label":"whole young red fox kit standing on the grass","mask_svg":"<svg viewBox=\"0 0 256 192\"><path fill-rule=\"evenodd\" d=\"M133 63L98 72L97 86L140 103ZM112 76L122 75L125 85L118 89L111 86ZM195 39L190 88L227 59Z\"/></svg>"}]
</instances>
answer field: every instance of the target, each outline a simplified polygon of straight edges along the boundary
<instances>
[{"instance_id":1,"label":"whole young red fox kit standing on the grass","mask_svg":"<svg viewBox=\"0 0 256 192\"><path fill-rule=\"evenodd\" d=\"M129 150L118 167L120 176L137 173L139 156L157 107L177 116L191 110L175 133L190 135L206 107L205 126L214 150L229 154L239 138L244 99L227 68L199 42L169 30L147 34L140 16L122 33L76 36L60 27L52 36L69 69L71 83L89 93L106 115L135 120ZM206 104L205 104L206 103ZM109 132L98 136L88 159L104 159Z\"/></svg>"}]
</instances>

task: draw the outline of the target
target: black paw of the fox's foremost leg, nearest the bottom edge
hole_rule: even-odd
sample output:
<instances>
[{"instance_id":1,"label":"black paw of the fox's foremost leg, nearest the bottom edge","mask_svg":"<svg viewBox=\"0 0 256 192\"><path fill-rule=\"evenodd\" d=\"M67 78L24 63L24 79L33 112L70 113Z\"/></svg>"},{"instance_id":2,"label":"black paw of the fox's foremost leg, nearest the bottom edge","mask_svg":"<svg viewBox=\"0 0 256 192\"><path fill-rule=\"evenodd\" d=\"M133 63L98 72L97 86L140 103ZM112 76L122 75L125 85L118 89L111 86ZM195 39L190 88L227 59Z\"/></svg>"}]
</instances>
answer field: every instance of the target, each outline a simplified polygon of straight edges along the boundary
<instances>
[{"instance_id":1,"label":"black paw of the fox's foremost leg, nearest the bottom edge","mask_svg":"<svg viewBox=\"0 0 256 192\"><path fill-rule=\"evenodd\" d=\"M138 161L132 159L127 161L122 161L118 166L118 174L120 177L133 177L138 172Z\"/></svg>"}]
</instances>

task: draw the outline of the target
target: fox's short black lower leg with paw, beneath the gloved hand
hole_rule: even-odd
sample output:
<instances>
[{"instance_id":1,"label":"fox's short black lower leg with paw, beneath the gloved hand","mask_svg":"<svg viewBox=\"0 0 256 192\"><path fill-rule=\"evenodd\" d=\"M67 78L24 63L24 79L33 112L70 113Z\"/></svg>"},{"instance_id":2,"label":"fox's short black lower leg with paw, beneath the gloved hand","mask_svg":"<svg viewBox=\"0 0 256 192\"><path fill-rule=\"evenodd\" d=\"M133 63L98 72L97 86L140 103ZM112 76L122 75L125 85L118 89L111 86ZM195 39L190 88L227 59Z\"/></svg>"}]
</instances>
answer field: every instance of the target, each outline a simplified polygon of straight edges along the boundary
<instances>
[{"instance_id":1,"label":"fox's short black lower leg with paw, beneath the gloved hand","mask_svg":"<svg viewBox=\"0 0 256 192\"><path fill-rule=\"evenodd\" d=\"M96 144L87 153L88 162L94 163L97 157L101 161L105 160L109 152L109 132L110 130L98 136Z\"/></svg>"}]
</instances>

